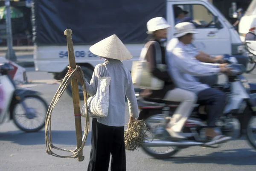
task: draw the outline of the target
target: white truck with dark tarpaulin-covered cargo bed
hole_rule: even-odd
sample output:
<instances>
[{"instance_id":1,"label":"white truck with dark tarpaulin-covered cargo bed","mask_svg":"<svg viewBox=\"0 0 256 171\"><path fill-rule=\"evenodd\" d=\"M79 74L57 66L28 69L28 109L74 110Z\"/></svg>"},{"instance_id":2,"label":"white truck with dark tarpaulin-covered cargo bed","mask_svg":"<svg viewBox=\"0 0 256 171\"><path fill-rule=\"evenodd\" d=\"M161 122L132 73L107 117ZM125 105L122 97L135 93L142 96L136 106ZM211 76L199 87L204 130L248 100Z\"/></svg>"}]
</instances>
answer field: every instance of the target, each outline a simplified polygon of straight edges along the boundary
<instances>
[{"instance_id":1,"label":"white truck with dark tarpaulin-covered cargo bed","mask_svg":"<svg viewBox=\"0 0 256 171\"><path fill-rule=\"evenodd\" d=\"M172 26L168 40L173 37L175 6L186 10L187 16L197 23L194 44L201 51L210 55L234 55L239 63L247 65L238 32L208 0L42 1L32 4L35 68L52 72L55 79L63 78L67 72L65 29L73 30L76 62L90 81L94 67L102 63L89 51L92 44L116 34L134 56L132 60L123 61L131 70L132 61L138 60L147 38L149 19L165 17ZM70 87L68 92L71 95Z\"/></svg>"}]
</instances>

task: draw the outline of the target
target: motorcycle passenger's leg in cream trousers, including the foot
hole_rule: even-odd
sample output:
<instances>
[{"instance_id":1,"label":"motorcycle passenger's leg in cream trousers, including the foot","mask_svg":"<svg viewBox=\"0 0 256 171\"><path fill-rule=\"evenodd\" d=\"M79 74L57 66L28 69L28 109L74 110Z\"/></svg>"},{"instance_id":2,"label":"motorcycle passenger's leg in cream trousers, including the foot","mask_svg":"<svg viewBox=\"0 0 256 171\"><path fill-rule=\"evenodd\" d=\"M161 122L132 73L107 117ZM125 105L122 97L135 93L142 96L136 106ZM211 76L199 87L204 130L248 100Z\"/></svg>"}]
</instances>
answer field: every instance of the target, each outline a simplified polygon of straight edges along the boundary
<instances>
[{"instance_id":1,"label":"motorcycle passenger's leg in cream trousers, including the foot","mask_svg":"<svg viewBox=\"0 0 256 171\"><path fill-rule=\"evenodd\" d=\"M177 138L185 138L179 134L182 130L186 119L189 117L193 110L193 105L197 101L195 93L192 93L187 90L175 88L166 93L166 96L163 98L165 101L180 101L179 107L175 110L175 113L172 117L166 117L166 130L171 136Z\"/></svg>"}]
</instances>

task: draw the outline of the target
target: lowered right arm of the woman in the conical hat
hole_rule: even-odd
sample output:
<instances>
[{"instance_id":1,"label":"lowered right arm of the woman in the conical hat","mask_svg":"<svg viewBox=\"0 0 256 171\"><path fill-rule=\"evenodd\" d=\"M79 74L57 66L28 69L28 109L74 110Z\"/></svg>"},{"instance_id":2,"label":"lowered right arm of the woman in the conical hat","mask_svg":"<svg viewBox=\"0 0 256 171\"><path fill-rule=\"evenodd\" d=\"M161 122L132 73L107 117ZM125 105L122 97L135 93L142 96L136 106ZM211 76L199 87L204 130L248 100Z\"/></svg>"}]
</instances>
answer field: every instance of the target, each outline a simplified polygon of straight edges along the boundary
<instances>
[{"instance_id":1,"label":"lowered right arm of the woman in the conical hat","mask_svg":"<svg viewBox=\"0 0 256 171\"><path fill-rule=\"evenodd\" d=\"M126 97L128 101L128 108L130 117L138 118L139 117L139 110L138 110L138 103L135 96L134 86L131 79L131 73L128 72L128 84L126 89Z\"/></svg>"}]
</instances>

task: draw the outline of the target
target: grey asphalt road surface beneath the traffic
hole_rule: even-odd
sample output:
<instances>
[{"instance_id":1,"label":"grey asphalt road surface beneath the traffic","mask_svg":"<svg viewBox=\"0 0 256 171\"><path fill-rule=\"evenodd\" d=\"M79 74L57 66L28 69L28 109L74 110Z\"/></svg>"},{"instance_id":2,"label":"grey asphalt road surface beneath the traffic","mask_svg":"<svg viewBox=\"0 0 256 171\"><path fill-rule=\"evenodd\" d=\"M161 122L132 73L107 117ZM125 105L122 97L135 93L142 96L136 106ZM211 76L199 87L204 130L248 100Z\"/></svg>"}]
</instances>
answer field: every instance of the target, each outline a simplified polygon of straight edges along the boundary
<instances>
[{"instance_id":1,"label":"grey asphalt road surface beneath the traffic","mask_svg":"<svg viewBox=\"0 0 256 171\"><path fill-rule=\"evenodd\" d=\"M52 75L27 68L32 82L22 87L43 93L51 102L58 84ZM256 72L247 75L256 82ZM223 79L221 79L223 81ZM82 101L81 101L82 106ZM128 122L128 110L126 121ZM76 145L73 103L64 93L52 113L52 140L58 147L74 149ZM62 159L46 154L45 133L23 133L12 121L0 125L0 171L85 171L90 154L90 134L83 149L85 159ZM69 154L67 154L69 155ZM186 148L170 159L154 159L139 151L127 151L127 171L255 171L256 151L247 140L233 139L220 148Z\"/></svg>"}]
</instances>

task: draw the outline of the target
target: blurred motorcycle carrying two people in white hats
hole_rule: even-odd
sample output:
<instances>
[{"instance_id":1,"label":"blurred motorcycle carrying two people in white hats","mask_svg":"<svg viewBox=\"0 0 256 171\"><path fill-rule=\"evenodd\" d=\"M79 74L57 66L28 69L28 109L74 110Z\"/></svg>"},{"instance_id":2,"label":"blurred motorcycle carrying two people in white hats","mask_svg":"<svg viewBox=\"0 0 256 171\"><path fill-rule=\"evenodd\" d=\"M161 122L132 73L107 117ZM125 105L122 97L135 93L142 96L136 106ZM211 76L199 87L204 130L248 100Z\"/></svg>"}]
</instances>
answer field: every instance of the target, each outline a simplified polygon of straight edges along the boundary
<instances>
[{"instance_id":1,"label":"blurred motorcycle carrying two people in white hats","mask_svg":"<svg viewBox=\"0 0 256 171\"><path fill-rule=\"evenodd\" d=\"M242 75L245 68L237 64L234 57L224 58L232 69L231 75L226 75L227 82L214 85L213 88L222 90L227 95L227 104L224 113L216 121L217 130L223 135L234 136L238 131L240 138L246 134L253 148L256 148L256 84L248 83ZM145 99L137 96L140 109L139 120L144 119L148 127L148 139L143 143L145 153L155 158L169 158L178 151L192 147L202 146L218 148L220 144L205 145L207 137L204 131L207 128L207 114L199 110L196 104L192 114L184 124L182 134L185 140L173 139L165 130L165 117L172 116L178 107L177 102ZM253 122L255 122L253 127Z\"/></svg>"}]
</instances>

